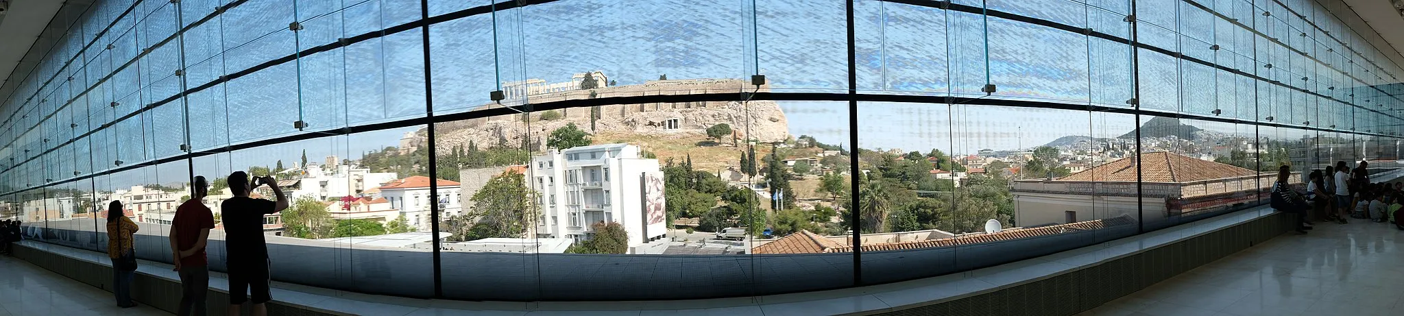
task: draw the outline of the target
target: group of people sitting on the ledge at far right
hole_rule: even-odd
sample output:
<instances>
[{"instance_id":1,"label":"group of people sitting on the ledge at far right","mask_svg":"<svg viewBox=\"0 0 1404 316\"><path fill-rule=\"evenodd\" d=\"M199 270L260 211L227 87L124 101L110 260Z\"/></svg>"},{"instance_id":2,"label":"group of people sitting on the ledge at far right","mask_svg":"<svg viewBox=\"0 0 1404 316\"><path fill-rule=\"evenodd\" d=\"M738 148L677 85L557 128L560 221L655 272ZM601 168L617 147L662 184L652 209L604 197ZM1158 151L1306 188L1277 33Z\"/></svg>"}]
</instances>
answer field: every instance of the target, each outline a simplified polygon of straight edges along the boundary
<instances>
[{"instance_id":1,"label":"group of people sitting on the ledge at far right","mask_svg":"<svg viewBox=\"0 0 1404 316\"><path fill-rule=\"evenodd\" d=\"M1346 223L1346 218L1369 219L1376 223L1394 223L1404 230L1404 220L1396 220L1394 213L1404 208L1404 183L1370 183L1369 163L1360 162L1355 169L1345 162L1313 170L1307 176L1307 191L1300 194L1287 183L1292 176L1289 166L1278 170L1278 181L1272 188L1272 206L1299 212L1296 232L1306 233L1313 222Z\"/></svg>"}]
</instances>

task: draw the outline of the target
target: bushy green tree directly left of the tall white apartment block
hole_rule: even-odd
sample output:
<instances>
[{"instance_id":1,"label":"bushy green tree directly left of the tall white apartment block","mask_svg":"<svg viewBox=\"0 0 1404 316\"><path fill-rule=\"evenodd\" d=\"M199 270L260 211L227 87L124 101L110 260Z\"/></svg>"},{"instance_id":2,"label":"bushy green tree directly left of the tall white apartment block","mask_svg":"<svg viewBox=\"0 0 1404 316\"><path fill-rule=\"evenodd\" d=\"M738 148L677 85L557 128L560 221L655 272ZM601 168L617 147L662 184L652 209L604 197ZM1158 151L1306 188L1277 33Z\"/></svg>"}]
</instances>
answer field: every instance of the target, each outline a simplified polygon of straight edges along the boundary
<instances>
[{"instance_id":1,"label":"bushy green tree directly left of the tall white apartment block","mask_svg":"<svg viewBox=\"0 0 1404 316\"><path fill-rule=\"evenodd\" d=\"M536 191L525 185L519 173L487 180L469 201L473 206L466 212L466 222L480 232L477 237L521 237L539 213Z\"/></svg>"}]
</instances>

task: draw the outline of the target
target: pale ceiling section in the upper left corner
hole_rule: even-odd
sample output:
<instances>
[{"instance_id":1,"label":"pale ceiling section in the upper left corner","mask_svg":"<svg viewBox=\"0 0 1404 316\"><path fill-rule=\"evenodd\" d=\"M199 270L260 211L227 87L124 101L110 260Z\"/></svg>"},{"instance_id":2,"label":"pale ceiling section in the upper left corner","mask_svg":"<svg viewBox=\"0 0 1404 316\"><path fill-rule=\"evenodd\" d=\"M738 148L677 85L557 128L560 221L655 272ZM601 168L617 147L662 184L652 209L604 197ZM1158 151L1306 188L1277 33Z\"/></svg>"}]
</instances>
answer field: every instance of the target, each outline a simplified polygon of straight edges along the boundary
<instances>
[{"instance_id":1,"label":"pale ceiling section in the upper left corner","mask_svg":"<svg viewBox=\"0 0 1404 316\"><path fill-rule=\"evenodd\" d=\"M0 15L0 79L4 79L4 81L0 81L0 86L7 84L10 80L21 80L20 77L10 77L10 74L20 66L20 60L29 52L29 46L34 46L34 42L39 39L39 34L49 25L49 21L59 13L65 1L8 0L8 13ZM25 59L24 62L32 63L38 62L39 56L28 58L35 60ZM27 73L28 70L21 69L21 72Z\"/></svg>"}]
</instances>

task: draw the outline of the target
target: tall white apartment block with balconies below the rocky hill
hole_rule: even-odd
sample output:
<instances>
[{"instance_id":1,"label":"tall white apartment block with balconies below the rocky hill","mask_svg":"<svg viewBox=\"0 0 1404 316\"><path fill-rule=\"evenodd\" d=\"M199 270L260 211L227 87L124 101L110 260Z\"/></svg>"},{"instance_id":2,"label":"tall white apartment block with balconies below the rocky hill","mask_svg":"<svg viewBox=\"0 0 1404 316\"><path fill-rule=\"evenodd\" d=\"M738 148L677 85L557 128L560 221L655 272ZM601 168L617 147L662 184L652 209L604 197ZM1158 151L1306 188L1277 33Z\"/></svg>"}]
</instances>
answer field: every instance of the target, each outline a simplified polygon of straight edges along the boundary
<instances>
[{"instance_id":1,"label":"tall white apartment block with balconies below the rocky hill","mask_svg":"<svg viewBox=\"0 0 1404 316\"><path fill-rule=\"evenodd\" d=\"M618 222L632 249L665 233L663 171L657 159L640 157L639 146L550 149L532 159L526 181L541 194L536 237L580 242L594 233L591 223Z\"/></svg>"}]
</instances>

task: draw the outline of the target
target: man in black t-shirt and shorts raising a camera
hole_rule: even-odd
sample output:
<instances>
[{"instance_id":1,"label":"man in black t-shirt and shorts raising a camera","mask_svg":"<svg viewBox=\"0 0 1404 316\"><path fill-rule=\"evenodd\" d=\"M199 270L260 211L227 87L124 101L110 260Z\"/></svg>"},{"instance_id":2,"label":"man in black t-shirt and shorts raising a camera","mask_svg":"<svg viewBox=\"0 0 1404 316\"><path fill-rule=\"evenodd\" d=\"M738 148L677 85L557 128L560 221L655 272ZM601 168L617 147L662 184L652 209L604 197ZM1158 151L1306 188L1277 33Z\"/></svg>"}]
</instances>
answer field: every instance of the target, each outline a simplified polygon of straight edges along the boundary
<instances>
[{"instance_id":1,"label":"man in black t-shirt and shorts raising a camera","mask_svg":"<svg viewBox=\"0 0 1404 316\"><path fill-rule=\"evenodd\" d=\"M288 197L278 188L272 177L254 178L234 171L229 174L229 191L233 198L225 199L220 220L225 225L225 265L229 268L229 315L239 315L239 306L249 301L244 291L253 292L254 316L268 315L264 306L272 301L268 292L268 246L264 243L264 215L288 208ZM250 198L249 192L268 184L278 201Z\"/></svg>"}]
</instances>

